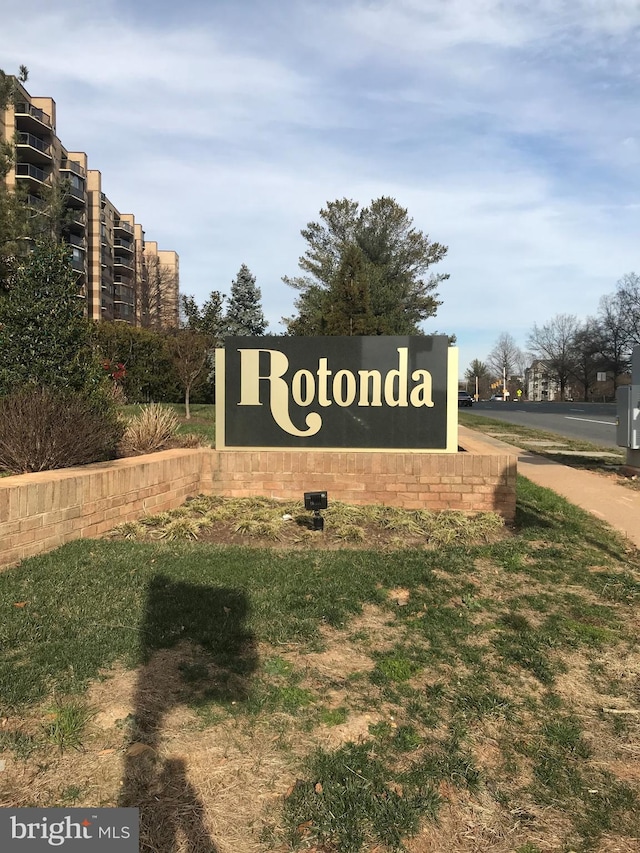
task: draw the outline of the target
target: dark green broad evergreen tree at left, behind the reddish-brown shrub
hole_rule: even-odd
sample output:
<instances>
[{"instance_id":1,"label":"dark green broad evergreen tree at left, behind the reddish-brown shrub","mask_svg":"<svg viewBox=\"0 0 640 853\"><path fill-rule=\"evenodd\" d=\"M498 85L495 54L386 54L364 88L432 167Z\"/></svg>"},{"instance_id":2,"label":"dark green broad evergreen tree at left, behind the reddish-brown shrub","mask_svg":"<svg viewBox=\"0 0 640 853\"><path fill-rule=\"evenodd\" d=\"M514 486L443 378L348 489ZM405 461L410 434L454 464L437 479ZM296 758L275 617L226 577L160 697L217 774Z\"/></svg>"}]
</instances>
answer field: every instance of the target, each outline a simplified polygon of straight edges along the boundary
<instances>
[{"instance_id":1,"label":"dark green broad evergreen tree at left, behind the reddish-brown shrub","mask_svg":"<svg viewBox=\"0 0 640 853\"><path fill-rule=\"evenodd\" d=\"M0 396L28 385L93 392L102 372L67 246L35 244L0 293Z\"/></svg>"}]
</instances>

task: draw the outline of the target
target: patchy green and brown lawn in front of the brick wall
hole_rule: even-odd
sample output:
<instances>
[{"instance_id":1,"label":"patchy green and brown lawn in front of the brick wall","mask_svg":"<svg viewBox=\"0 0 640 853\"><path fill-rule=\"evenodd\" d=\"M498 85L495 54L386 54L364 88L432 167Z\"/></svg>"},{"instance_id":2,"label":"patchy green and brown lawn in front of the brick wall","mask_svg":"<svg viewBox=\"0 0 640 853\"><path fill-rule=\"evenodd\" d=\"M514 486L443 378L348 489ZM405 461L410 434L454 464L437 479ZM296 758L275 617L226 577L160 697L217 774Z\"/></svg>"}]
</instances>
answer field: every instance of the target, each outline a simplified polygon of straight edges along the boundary
<instances>
[{"instance_id":1,"label":"patchy green and brown lawn in front of the brick wall","mask_svg":"<svg viewBox=\"0 0 640 853\"><path fill-rule=\"evenodd\" d=\"M637 851L638 552L522 478L480 533L6 571L0 806L138 806L161 853Z\"/></svg>"}]
</instances>

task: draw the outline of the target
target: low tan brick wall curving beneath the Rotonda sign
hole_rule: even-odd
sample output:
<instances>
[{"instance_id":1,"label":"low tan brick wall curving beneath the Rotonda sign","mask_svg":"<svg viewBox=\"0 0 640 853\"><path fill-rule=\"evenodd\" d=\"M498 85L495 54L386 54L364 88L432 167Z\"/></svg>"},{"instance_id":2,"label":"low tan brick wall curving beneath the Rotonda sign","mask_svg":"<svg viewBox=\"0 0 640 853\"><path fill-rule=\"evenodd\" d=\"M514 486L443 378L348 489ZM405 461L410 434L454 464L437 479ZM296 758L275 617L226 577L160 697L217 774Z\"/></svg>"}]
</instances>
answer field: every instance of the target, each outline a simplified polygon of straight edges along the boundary
<instances>
[{"instance_id":1,"label":"low tan brick wall curving beneath the Rotonda sign","mask_svg":"<svg viewBox=\"0 0 640 853\"><path fill-rule=\"evenodd\" d=\"M302 498L430 510L515 513L516 456L460 429L464 453L167 450L0 479L0 566L123 521L180 506L189 495Z\"/></svg>"}]
</instances>

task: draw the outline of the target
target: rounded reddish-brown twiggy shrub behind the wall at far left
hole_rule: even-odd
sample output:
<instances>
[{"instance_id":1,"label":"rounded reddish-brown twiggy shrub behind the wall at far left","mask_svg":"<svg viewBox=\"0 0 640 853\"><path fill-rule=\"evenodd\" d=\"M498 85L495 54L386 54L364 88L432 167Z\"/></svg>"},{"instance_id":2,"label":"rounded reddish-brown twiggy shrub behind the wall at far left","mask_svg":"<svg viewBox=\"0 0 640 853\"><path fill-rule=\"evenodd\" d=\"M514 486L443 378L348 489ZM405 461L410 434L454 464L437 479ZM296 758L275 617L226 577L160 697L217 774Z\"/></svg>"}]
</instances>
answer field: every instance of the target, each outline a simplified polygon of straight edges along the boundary
<instances>
[{"instance_id":1,"label":"rounded reddish-brown twiggy shrub behind the wall at far left","mask_svg":"<svg viewBox=\"0 0 640 853\"><path fill-rule=\"evenodd\" d=\"M113 459L124 425L106 398L29 388L0 399L0 468L12 474Z\"/></svg>"}]
</instances>

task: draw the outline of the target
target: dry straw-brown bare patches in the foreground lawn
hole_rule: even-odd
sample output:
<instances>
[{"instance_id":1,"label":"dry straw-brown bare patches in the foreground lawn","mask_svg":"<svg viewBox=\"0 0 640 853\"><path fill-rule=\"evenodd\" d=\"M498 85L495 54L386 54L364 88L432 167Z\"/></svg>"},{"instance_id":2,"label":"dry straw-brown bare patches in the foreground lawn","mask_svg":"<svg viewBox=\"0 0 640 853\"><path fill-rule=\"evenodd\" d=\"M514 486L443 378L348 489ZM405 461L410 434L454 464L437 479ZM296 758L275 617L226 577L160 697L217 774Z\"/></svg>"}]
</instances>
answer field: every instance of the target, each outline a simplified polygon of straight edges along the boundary
<instances>
[{"instance_id":1,"label":"dry straw-brown bare patches in the foreground lawn","mask_svg":"<svg viewBox=\"0 0 640 853\"><path fill-rule=\"evenodd\" d=\"M487 567L492 577L490 567ZM513 579L516 580L515 578ZM490 585L492 588L492 585ZM404 600L404 596L401 597ZM402 606L402 605L398 605ZM339 725L300 727L295 715L277 713L246 717L223 714L214 722L203 722L189 707L190 694L180 674L185 661L202 660L188 646L156 653L139 671L116 668L96 681L86 695L96 710L81 752L60 754L41 747L37 760L22 760L5 753L5 771L0 774L0 804L41 806L67 803L75 806L115 806L123 791L135 791L143 815L142 851L159 853L266 853L273 839L282 844L281 805L296 782L301 762L318 745L337 748L348 741L364 740L370 727L385 721L392 727L405 720L397 709L384 702L369 710L354 707L354 674L368 672L372 654L393 645L403 628L387 611L373 605L364 608L342 630L324 627L322 651L305 652L294 644L262 645L262 660L273 656L303 673L301 686L320 688L326 707L350 705L347 720ZM627 683L629 695L640 684L640 664L622 650L605 654L611 672ZM594 685L584 654L565 659L567 671L560 675L556 692L585 722L594 750L594 763L629 784L640 785L640 741L638 725L622 740L612 733L610 721L599 709L611 704ZM423 671L422 684L448 675ZM535 680L514 679L504 685L514 700L539 689ZM329 688L322 685L330 684ZM238 688L240 689L240 687ZM192 698L192 697L191 697ZM625 696L618 697L619 704ZM357 704L357 702L356 702ZM131 719L145 714L154 717L160 729L153 745L137 740ZM44 709L35 708L20 722L23 732L37 734ZM522 716L520 727L528 723ZM14 725L15 721L5 721ZM434 731L437 739L444 726ZM489 718L470 728L470 747L487 779L504 774L504 739L512 731L504 720ZM509 784L523 788L530 782L530 766L523 761L510 771ZM70 789L76 792L69 801ZM409 853L513 853L519 845L535 844L541 851L558 851L570 836L570 817L533 801L525 806L504 807L492 795L492 787L476 793L448 782L439 787L442 807L436 823L427 823L420 834L407 842ZM520 801L522 803L522 800ZM265 829L266 828L266 829ZM271 839L271 842L268 841ZM367 848L373 853L374 848ZM604 836L594 848L598 853L635 853L629 839ZM378 848L380 853L380 848Z\"/></svg>"}]
</instances>

